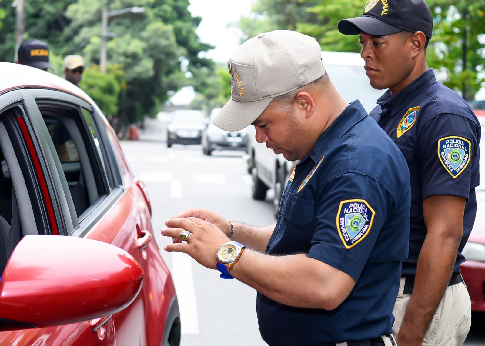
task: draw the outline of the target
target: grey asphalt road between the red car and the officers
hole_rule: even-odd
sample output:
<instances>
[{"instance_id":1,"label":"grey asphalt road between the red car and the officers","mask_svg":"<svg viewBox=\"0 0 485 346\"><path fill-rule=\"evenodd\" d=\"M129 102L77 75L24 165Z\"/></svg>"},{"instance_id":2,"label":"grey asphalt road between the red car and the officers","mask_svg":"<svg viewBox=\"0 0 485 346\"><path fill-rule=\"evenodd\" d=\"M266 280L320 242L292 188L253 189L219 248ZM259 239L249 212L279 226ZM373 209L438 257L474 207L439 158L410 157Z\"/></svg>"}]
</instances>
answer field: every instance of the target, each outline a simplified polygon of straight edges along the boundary
<instances>
[{"instance_id":1,"label":"grey asphalt road between the red car and the officers","mask_svg":"<svg viewBox=\"0 0 485 346\"><path fill-rule=\"evenodd\" d=\"M140 141L123 141L122 147L133 172L148 187L155 238L178 294L181 345L266 345L259 335L256 291L237 280L219 278L218 271L202 267L184 253L164 252L171 239L157 230L177 211L191 207L254 226L275 223L272 191L267 201L251 198L251 176L242 152L216 151L208 157L200 145L167 148L162 126L151 123L151 128L142 132ZM465 345L485 345L485 315L472 319Z\"/></svg>"}]
</instances>

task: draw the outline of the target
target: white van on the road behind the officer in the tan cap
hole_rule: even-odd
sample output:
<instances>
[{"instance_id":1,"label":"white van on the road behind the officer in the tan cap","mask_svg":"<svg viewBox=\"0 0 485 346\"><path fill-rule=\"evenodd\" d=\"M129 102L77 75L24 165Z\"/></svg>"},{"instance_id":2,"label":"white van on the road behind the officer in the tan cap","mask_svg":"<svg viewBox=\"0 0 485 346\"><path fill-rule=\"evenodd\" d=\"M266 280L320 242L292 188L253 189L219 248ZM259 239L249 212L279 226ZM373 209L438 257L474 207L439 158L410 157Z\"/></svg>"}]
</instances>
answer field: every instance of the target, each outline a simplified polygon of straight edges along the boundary
<instances>
[{"instance_id":1,"label":"white van on the road behind the officer in the tan cap","mask_svg":"<svg viewBox=\"0 0 485 346\"><path fill-rule=\"evenodd\" d=\"M328 76L347 102L358 99L368 112L377 105L376 100L385 91L372 88L359 53L323 51L322 59ZM276 155L266 148L266 144L256 142L254 126L248 127L247 141L248 172L253 176L252 196L256 200L264 200L266 191L275 189L273 203L277 217L281 194L293 162L286 160L282 154Z\"/></svg>"}]
</instances>

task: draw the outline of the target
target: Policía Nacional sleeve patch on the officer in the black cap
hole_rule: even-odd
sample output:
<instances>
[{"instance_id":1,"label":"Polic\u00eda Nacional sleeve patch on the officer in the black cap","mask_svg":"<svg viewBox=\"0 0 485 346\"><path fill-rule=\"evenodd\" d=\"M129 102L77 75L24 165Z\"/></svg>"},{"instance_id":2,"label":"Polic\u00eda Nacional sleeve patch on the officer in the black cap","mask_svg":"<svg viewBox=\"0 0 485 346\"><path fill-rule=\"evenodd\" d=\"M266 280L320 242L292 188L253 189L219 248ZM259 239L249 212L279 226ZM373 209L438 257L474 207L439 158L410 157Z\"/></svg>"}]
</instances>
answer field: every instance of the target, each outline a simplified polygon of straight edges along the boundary
<instances>
[{"instance_id":1,"label":"Polic\u00eda Nacional sleeve patch on the officer in the black cap","mask_svg":"<svg viewBox=\"0 0 485 346\"><path fill-rule=\"evenodd\" d=\"M438 140L438 157L454 179L467 168L470 162L471 143L458 136L441 138Z\"/></svg>"}]
</instances>

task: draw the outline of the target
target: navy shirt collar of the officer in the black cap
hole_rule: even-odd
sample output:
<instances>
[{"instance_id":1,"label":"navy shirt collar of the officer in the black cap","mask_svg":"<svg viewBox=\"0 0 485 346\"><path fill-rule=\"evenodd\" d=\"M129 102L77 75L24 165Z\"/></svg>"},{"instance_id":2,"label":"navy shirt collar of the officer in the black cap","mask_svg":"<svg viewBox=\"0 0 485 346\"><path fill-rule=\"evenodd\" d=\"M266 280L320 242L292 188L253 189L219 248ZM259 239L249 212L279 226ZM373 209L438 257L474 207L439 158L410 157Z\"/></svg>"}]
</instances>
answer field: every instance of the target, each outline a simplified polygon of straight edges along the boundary
<instances>
[{"instance_id":1,"label":"navy shirt collar of the officer in the black cap","mask_svg":"<svg viewBox=\"0 0 485 346\"><path fill-rule=\"evenodd\" d=\"M405 108L411 100L414 100L418 95L424 93L424 91L434 83L436 83L435 73L433 72L433 69L430 68L420 77L409 83L409 85L406 85L403 90L394 96L391 97L390 90L386 91L386 93L379 97L377 104L379 104L383 110L387 104L390 109L390 116L393 116Z\"/></svg>"}]
</instances>

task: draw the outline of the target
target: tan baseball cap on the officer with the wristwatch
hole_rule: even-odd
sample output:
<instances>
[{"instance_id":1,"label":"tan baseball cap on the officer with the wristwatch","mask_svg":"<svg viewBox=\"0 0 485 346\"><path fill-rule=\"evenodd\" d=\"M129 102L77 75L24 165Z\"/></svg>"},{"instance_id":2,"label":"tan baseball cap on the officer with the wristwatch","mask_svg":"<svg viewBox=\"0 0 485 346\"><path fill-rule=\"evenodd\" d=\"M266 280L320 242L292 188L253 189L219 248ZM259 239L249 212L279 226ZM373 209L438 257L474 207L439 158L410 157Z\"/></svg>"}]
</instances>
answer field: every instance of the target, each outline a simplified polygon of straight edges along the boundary
<instances>
[{"instance_id":1,"label":"tan baseball cap on the officer with the wristwatch","mask_svg":"<svg viewBox=\"0 0 485 346\"><path fill-rule=\"evenodd\" d=\"M231 99L212 123L226 131L250 125L275 96L322 77L321 54L313 37L296 31L275 30L250 38L229 60Z\"/></svg>"}]
</instances>

